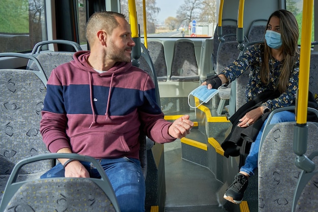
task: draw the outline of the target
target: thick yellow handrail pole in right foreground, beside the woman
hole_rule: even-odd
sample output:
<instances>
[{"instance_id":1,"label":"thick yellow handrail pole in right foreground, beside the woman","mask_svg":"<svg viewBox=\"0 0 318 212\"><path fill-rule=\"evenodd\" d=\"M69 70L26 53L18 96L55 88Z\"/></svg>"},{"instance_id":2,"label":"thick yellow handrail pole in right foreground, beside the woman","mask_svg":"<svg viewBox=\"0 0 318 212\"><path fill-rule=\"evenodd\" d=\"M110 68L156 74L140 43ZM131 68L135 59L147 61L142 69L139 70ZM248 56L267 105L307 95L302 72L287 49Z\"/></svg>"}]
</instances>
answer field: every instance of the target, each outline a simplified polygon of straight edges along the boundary
<instances>
[{"instance_id":1,"label":"thick yellow handrail pole in right foreground, beside the woman","mask_svg":"<svg viewBox=\"0 0 318 212\"><path fill-rule=\"evenodd\" d=\"M310 42L313 8L313 0L306 0L303 2L303 18L300 43L301 48L299 62L299 88L296 114L297 124L305 124L307 122Z\"/></svg>"}]
</instances>

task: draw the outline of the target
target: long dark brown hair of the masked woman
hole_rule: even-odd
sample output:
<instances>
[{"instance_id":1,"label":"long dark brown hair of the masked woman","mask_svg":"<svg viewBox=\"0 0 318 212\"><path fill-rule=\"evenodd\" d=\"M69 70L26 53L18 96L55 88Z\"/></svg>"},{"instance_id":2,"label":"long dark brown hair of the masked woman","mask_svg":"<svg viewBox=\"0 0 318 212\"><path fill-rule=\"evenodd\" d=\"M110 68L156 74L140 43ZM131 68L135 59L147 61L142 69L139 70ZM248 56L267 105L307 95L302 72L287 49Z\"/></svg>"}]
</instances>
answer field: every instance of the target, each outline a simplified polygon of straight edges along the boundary
<instances>
[{"instance_id":1,"label":"long dark brown hair of the masked woman","mask_svg":"<svg viewBox=\"0 0 318 212\"><path fill-rule=\"evenodd\" d=\"M287 10L277 10L273 12L268 19L267 25L273 16L276 16L280 20L279 28L282 40L283 57L280 77L277 86L280 93L283 93L288 87L291 70L293 70L293 66L299 55L297 44L299 38L299 31L297 20L291 12ZM264 58L262 61L262 68L260 74L261 80L265 84L269 83L270 68L268 62L270 57L270 47L268 45L264 45Z\"/></svg>"}]
</instances>

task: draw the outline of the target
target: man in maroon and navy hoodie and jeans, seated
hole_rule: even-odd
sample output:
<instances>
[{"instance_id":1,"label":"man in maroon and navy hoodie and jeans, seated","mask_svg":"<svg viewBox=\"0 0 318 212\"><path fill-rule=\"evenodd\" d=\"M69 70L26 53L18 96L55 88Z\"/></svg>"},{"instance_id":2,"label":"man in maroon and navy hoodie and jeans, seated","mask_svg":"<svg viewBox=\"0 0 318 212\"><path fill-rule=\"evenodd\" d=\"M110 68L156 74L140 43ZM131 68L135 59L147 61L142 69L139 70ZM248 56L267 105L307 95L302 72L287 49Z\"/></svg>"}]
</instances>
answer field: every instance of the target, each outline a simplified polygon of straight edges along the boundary
<instances>
[{"instance_id":1,"label":"man in maroon and navy hoodie and jeans, seated","mask_svg":"<svg viewBox=\"0 0 318 212\"><path fill-rule=\"evenodd\" d=\"M51 73L40 131L52 153L77 153L99 160L115 191L120 209L144 211L145 183L139 162L140 130L158 143L189 133L184 115L170 123L155 102L154 84L133 67L135 46L124 15L93 14L86 25L90 51ZM59 159L46 177L99 177L91 164Z\"/></svg>"}]
</instances>

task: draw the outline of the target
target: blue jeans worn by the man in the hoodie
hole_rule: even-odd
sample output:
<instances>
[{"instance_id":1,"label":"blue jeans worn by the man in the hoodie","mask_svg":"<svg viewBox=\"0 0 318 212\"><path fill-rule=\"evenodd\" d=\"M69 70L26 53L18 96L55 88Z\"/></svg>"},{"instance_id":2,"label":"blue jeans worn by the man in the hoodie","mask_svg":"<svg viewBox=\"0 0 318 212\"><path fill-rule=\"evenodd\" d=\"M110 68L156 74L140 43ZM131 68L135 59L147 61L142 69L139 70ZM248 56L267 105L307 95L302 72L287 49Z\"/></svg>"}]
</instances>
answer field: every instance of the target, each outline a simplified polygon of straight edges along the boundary
<instances>
[{"instance_id":1,"label":"blue jeans worn by the man in the hoodie","mask_svg":"<svg viewBox=\"0 0 318 212\"><path fill-rule=\"evenodd\" d=\"M115 191L121 212L145 211L145 180L140 161L133 158L97 159ZM100 178L96 167L89 162L81 163L88 170L90 177ZM58 163L41 178L64 177L65 169Z\"/></svg>"}]
</instances>

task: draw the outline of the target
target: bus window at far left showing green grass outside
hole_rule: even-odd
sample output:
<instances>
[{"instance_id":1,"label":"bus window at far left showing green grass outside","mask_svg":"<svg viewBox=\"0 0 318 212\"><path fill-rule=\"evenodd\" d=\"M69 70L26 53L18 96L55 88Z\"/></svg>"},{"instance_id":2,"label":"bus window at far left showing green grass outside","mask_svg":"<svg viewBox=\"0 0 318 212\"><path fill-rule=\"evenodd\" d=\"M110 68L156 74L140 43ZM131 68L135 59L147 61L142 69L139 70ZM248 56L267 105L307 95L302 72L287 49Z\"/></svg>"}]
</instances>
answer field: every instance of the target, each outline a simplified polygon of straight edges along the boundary
<instances>
[{"instance_id":1,"label":"bus window at far left showing green grass outside","mask_svg":"<svg viewBox=\"0 0 318 212\"><path fill-rule=\"evenodd\" d=\"M0 11L0 52L30 52L47 40L44 0L2 0Z\"/></svg>"}]
</instances>

